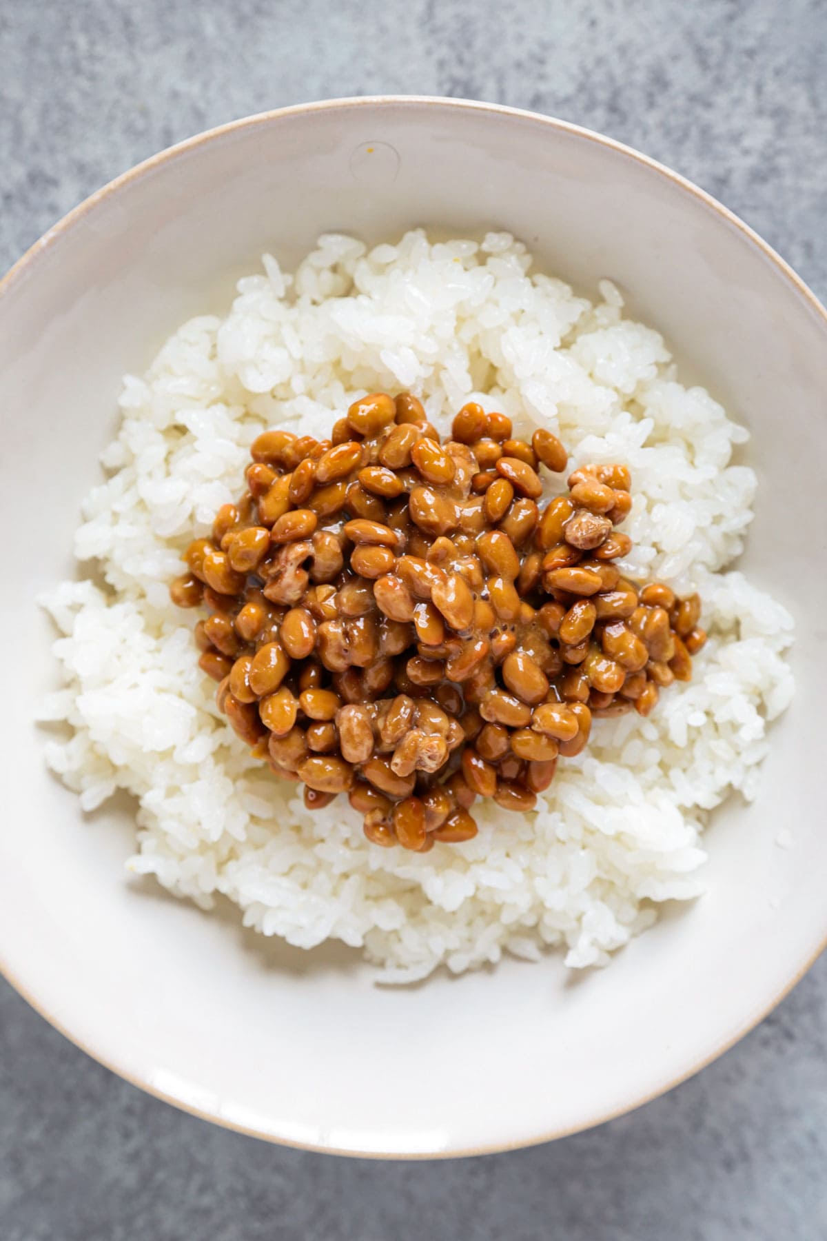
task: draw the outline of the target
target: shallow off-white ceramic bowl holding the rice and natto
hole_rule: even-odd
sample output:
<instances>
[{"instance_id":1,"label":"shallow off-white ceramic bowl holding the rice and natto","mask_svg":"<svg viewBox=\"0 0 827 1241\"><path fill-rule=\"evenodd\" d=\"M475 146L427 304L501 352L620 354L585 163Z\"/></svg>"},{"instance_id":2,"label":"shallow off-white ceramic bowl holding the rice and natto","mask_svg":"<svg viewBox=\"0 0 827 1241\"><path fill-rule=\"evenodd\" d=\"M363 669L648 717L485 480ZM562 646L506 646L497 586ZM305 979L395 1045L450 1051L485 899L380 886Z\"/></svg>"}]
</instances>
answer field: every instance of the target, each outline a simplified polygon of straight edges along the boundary
<instances>
[{"instance_id":1,"label":"shallow off-white ceramic bowl holding the rice and natto","mask_svg":"<svg viewBox=\"0 0 827 1241\"><path fill-rule=\"evenodd\" d=\"M372 151L368 151L372 148ZM709 892L611 967L505 962L373 987L126 880L129 805L84 818L32 719L53 684L36 593L72 572L81 498L124 371L227 305L263 249L320 231L508 228L586 293L600 277L753 432L745 556L798 625L795 702L758 802L708 834ZM595 1124L753 1026L823 946L827 315L743 223L596 134L445 99L289 108L184 143L57 225L0 287L5 653L0 963L103 1064L180 1107L278 1142L369 1155L502 1149ZM780 849L789 828L794 844Z\"/></svg>"}]
</instances>

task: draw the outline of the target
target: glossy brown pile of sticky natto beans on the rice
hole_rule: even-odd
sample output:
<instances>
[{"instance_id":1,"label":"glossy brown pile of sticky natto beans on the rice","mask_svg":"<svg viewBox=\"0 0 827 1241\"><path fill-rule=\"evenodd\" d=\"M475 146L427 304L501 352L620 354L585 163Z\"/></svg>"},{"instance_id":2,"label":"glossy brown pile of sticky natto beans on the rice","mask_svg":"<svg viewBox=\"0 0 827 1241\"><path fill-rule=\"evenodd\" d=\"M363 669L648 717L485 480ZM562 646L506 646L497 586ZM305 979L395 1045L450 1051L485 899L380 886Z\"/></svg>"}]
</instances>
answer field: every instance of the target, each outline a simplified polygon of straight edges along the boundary
<instances>
[{"instance_id":1,"label":"glossy brown pile of sticky natto beans on the rice","mask_svg":"<svg viewBox=\"0 0 827 1241\"><path fill-rule=\"evenodd\" d=\"M476 835L531 810L595 716L648 715L692 675L697 594L635 585L624 465L582 465L476 403L440 437L410 393L356 401L330 439L267 431L170 591L206 606L200 665L236 732L307 807L338 793L377 845Z\"/></svg>"}]
</instances>

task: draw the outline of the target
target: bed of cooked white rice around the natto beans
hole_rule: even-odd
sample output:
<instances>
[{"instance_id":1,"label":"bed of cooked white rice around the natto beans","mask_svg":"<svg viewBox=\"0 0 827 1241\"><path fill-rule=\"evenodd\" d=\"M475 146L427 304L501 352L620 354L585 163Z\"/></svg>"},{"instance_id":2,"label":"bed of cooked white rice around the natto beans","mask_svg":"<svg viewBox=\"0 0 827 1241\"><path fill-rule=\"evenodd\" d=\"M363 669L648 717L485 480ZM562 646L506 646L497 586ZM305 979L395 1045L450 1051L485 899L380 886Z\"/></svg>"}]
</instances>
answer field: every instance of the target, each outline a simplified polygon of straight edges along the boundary
<instances>
[{"instance_id":1,"label":"bed of cooked white rice around the natto beans","mask_svg":"<svg viewBox=\"0 0 827 1241\"><path fill-rule=\"evenodd\" d=\"M506 233L431 244L417 231L371 252L325 236L295 276L265 254L224 319L186 323L143 380L124 380L107 482L76 537L105 586L66 582L46 601L64 688L43 717L72 730L47 758L86 810L118 788L135 795L129 869L202 907L224 894L245 925L293 944L362 948L389 980L557 944L568 965L604 964L653 921L652 902L703 891L707 812L730 789L755 793L766 724L794 689L790 616L720 572L751 517L755 474L729 464L746 432L679 385L611 284L591 304L529 267ZM250 759L197 669L196 617L167 596L264 427L321 437L376 388L412 388L443 432L479 400L517 433L549 427L575 462L626 462L627 571L697 588L710 632L692 683L647 720L596 721L536 813L477 802L479 836L423 856L368 844L345 798L309 813Z\"/></svg>"}]
</instances>

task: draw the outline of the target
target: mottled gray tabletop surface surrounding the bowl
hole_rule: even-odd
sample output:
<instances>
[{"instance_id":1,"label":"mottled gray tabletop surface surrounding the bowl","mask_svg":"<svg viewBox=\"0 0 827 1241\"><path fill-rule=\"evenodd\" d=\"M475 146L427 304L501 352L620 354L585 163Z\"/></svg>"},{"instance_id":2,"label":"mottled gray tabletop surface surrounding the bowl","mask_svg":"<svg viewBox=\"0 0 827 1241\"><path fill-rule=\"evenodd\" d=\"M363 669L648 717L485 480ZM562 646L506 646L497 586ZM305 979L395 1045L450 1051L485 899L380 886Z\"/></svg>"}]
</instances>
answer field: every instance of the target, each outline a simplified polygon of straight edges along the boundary
<instances>
[{"instance_id":1,"label":"mottled gray tabletop surface surrounding the bowl","mask_svg":"<svg viewBox=\"0 0 827 1241\"><path fill-rule=\"evenodd\" d=\"M818 0L0 0L0 267L200 129L382 92L548 112L733 207L827 295ZM591 1133L451 1164L304 1154L112 1076L0 984L2 1241L821 1241L827 959L738 1047Z\"/></svg>"}]
</instances>

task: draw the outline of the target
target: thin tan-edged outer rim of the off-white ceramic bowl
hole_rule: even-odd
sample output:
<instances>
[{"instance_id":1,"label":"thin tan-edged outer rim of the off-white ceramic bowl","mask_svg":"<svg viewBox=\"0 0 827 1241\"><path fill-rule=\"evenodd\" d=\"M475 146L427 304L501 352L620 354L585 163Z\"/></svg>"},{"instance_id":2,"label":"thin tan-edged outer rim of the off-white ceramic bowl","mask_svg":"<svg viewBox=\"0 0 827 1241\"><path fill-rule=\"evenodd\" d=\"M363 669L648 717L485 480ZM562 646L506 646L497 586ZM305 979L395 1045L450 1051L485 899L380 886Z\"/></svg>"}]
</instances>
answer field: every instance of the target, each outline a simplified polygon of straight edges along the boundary
<instances>
[{"instance_id":1,"label":"thin tan-edged outer rim of the off-white ceramic bowl","mask_svg":"<svg viewBox=\"0 0 827 1241\"><path fill-rule=\"evenodd\" d=\"M619 141L615 138L609 138L605 134L598 133L596 130L588 129L583 125L574 124L569 120L562 120L555 117L548 117L538 112L531 112L524 108L512 108L506 104L500 103L487 103L485 101L477 99L455 99L446 96L425 96L425 94L376 94L376 96L350 96L342 98L331 99L319 99L311 101L309 103L290 104L284 108L273 108L267 112L254 113L248 117L239 117L236 120L226 122L224 124L216 125L211 129L205 129L191 138L186 138L180 143L175 143L171 146L166 146L148 159L141 160L139 164L133 165L124 172L115 176L113 180L108 181L100 189L95 190L76 207L62 216L51 228L33 242L29 249L9 268L5 276L0 279L0 299L6 297L21 279L25 279L30 272L33 269L38 258L47 253L62 237L69 233L79 221L91 212L99 202L117 194L123 187L130 185L133 181L138 181L148 175L151 175L161 165L172 163L179 156L188 154L190 151L207 145L216 140L224 138L228 134L238 133L245 129L253 129L259 125L269 125L274 122L279 122L284 118L296 117L303 114L311 114L319 112L332 112L341 109L356 109L356 108L382 108L382 107L439 107L439 108L451 108L458 112L485 112L493 113L496 115L511 117L523 122L531 122L533 124L539 124L546 127L551 132L563 133L574 138L580 138L586 141L595 143L613 151L614 154L622 155L626 159L631 159L637 164L643 165L652 172L658 174L666 180L671 181L678 190L684 194L689 194L692 197L703 204L707 208L722 217L722 220L736 228L748 242L755 246L761 253L767 258L772 266L779 271L779 273L792 284L796 293L803 298L803 300L810 305L811 310L822 320L822 326L827 331L827 309L818 300L812 289L805 283L805 280L794 271L794 268L784 259L781 256L764 241L755 230L750 228L739 216L736 216L729 207L725 207L718 201L713 195L702 190L698 185L691 181L688 177L682 176L679 172L673 171L667 165L652 159L650 155L645 155L636 150L634 146L629 146L625 143ZM466 1147L460 1149L443 1149L443 1150L422 1150L422 1152L405 1152L403 1155L394 1152L381 1152L381 1150L360 1150L356 1148L336 1148L330 1145L324 1145L321 1143L303 1142L295 1138L284 1137L269 1132L264 1128L258 1128L253 1126L239 1124L226 1117L211 1111L208 1107L200 1107L193 1104L190 1100L175 1095L172 1091L160 1090L157 1086L151 1083L145 1076L136 1072L125 1071L109 1056L100 1054L95 1047L87 1040L76 1036L69 1029L67 1029L62 1021L55 1018L43 1004L36 999L24 983L24 980L16 977L9 968L4 959L4 954L0 946L0 977L14 988L15 992L41 1016L46 1020L53 1029L56 1029L63 1037L68 1039L76 1047L91 1056L104 1069L115 1073L122 1080L129 1082L131 1086L138 1087L148 1095L160 1100L164 1103L170 1103L179 1111L186 1112L190 1116L195 1116L201 1121L207 1121L213 1124L218 1124L224 1129L231 1129L236 1133L242 1133L245 1137L260 1138L262 1140L273 1143L280 1147L289 1147L299 1150L310 1150L317 1154L335 1154L346 1155L350 1158L362 1158L362 1159L377 1159L377 1160L424 1160L424 1159L458 1159L469 1158L472 1155L487 1155L498 1154L507 1150L518 1150L534 1145L541 1145L546 1142L553 1142L557 1138L570 1137L575 1133L584 1132L590 1128L596 1128L598 1126L605 1124L608 1121L616 1119L617 1117L625 1116L629 1112L636 1111L645 1103L650 1103L668 1091L679 1086L682 1082L693 1077L707 1065L712 1064L725 1051L729 1051L736 1042L739 1042L746 1034L758 1026L764 1018L766 1018L786 995L796 987L807 970L815 964L821 953L827 948L827 927L822 934L822 938L816 947L815 952L802 963L800 963L789 979L789 982L775 994L771 999L761 1005L756 1011L753 1011L746 1016L743 1024L732 1035L728 1035L722 1040L718 1046L708 1055L693 1061L687 1069L682 1070L677 1076L671 1078L668 1082L658 1086L657 1088L648 1091L643 1096L634 1100L632 1102L625 1102L620 1107L611 1108L596 1119L589 1119L583 1123L565 1126L563 1128L557 1128L552 1131L544 1131L542 1133L532 1134L527 1138L521 1138L516 1142L493 1142L479 1147Z\"/></svg>"}]
</instances>

